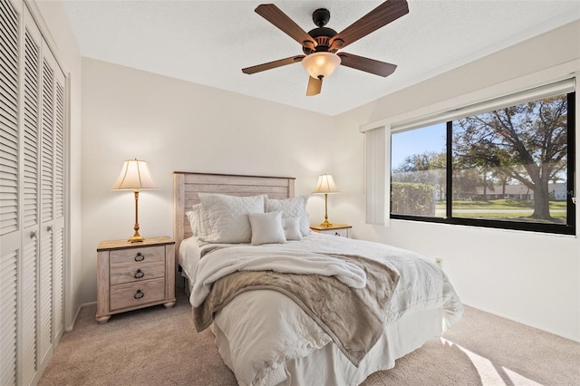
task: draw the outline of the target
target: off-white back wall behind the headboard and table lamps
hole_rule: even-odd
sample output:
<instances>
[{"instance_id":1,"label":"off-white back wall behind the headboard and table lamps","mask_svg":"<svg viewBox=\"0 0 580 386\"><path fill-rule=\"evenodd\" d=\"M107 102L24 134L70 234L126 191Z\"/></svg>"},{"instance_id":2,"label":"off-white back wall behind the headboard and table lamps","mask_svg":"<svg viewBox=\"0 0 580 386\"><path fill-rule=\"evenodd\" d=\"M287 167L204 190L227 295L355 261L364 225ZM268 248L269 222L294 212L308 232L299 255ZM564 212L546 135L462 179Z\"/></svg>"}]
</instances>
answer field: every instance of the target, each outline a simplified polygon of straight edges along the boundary
<instances>
[{"instance_id":1,"label":"off-white back wall behind the headboard and table lamps","mask_svg":"<svg viewBox=\"0 0 580 386\"><path fill-rule=\"evenodd\" d=\"M333 172L333 119L119 65L82 62L82 301L96 298L96 247L132 236L132 192L112 191L124 159L145 159L159 190L139 199L141 236L173 235L173 171L295 177L310 194ZM311 198L312 217L324 200Z\"/></svg>"}]
</instances>

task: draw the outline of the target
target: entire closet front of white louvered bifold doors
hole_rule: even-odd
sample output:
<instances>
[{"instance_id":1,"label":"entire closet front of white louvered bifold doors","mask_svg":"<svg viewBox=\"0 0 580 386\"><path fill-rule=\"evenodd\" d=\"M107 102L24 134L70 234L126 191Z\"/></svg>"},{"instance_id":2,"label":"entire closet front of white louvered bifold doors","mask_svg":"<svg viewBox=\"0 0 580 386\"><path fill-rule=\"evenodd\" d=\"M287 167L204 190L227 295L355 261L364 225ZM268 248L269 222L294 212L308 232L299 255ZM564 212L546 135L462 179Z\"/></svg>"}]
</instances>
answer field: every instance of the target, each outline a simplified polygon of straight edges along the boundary
<instances>
[{"instance_id":1,"label":"entire closet front of white louvered bifold doors","mask_svg":"<svg viewBox=\"0 0 580 386\"><path fill-rule=\"evenodd\" d=\"M29 385L63 335L66 79L22 0L0 34L0 385Z\"/></svg>"}]
</instances>

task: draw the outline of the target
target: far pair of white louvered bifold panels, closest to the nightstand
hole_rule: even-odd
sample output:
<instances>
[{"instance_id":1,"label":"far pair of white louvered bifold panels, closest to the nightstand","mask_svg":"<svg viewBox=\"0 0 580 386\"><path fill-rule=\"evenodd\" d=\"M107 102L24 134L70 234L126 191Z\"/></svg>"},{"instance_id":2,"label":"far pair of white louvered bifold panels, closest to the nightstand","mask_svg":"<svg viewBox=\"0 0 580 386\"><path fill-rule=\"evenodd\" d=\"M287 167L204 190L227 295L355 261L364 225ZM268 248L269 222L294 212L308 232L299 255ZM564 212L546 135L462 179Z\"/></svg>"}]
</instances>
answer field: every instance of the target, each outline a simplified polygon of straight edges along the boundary
<instances>
[{"instance_id":1,"label":"far pair of white louvered bifold panels, closest to the nightstand","mask_svg":"<svg viewBox=\"0 0 580 386\"><path fill-rule=\"evenodd\" d=\"M39 355L48 362L63 335L65 78L50 49L41 64Z\"/></svg>"}]
</instances>

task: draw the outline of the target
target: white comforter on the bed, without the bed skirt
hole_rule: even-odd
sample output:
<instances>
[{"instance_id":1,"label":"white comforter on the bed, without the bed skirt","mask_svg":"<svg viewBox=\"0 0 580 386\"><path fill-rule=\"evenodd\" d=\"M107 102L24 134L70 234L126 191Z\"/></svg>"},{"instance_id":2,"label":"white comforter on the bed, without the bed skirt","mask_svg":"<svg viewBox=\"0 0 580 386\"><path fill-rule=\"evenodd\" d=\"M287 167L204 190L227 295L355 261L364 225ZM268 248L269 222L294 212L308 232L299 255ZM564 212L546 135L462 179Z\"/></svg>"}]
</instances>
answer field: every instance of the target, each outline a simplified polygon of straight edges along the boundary
<instances>
[{"instance_id":1,"label":"white comforter on the bed, without the bed skirt","mask_svg":"<svg viewBox=\"0 0 580 386\"><path fill-rule=\"evenodd\" d=\"M188 246L183 246L182 249L187 248ZM195 246L189 248L196 249ZM447 275L439 266L411 251L319 234L306 236L301 241L268 245L267 248L270 251L350 254L389 265L401 279L385 310L387 327L390 323L397 323L406 314L426 309L442 310L442 322L447 326L456 323L461 317L463 307ZM211 255L206 256L201 259L201 263L208 260L210 265L211 258ZM198 257L194 256L193 260L196 259ZM200 272L201 263L197 266L190 261L182 262L182 265L189 266L194 288L203 287L204 277L211 275ZM218 272L219 269L214 269L213 272ZM191 300L192 304L197 303L193 293ZM219 336L223 334L223 338L227 339L227 347L221 346L220 353L236 373L237 381L241 385L271 385L284 381L288 376L285 369L288 361L310 355L332 342L304 311L284 295L274 291L261 290L240 294L216 315L215 323ZM415 339L412 334L408 335L410 336L401 336L398 339Z\"/></svg>"}]
</instances>

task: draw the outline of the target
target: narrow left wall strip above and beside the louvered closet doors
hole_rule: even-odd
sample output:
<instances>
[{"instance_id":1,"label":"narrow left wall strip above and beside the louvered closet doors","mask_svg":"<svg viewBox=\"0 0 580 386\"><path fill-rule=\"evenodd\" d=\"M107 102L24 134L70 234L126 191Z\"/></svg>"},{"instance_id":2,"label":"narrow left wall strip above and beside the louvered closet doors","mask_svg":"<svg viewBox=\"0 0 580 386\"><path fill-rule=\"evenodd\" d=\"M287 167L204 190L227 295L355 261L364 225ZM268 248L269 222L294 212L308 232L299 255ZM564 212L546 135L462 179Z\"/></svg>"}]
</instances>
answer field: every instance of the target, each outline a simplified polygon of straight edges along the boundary
<instances>
[{"instance_id":1,"label":"narrow left wall strip above and beside the louvered closet doors","mask_svg":"<svg viewBox=\"0 0 580 386\"><path fill-rule=\"evenodd\" d=\"M63 66L63 71L70 82L70 131L66 138L70 147L69 164L69 191L71 213L69 217L68 249L70 259L65 265L65 292L64 292L64 328L69 330L73 326L79 306L83 303L79 297L83 285L81 276L81 87L82 87L82 59L79 47L73 36L68 16L60 1L31 2L31 11L38 24L41 25L43 35L53 49L54 56Z\"/></svg>"}]
</instances>

